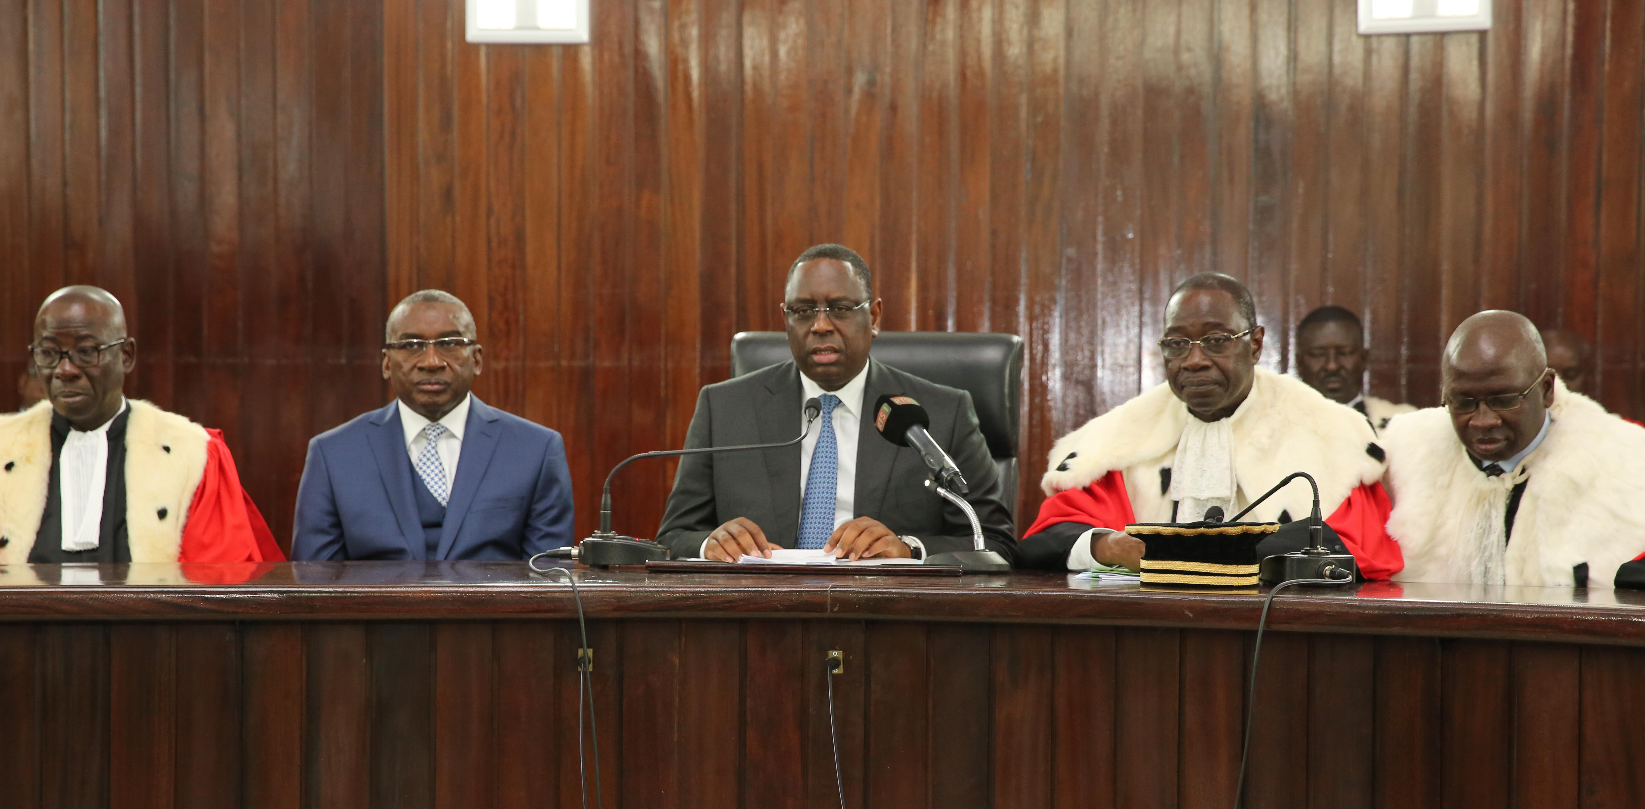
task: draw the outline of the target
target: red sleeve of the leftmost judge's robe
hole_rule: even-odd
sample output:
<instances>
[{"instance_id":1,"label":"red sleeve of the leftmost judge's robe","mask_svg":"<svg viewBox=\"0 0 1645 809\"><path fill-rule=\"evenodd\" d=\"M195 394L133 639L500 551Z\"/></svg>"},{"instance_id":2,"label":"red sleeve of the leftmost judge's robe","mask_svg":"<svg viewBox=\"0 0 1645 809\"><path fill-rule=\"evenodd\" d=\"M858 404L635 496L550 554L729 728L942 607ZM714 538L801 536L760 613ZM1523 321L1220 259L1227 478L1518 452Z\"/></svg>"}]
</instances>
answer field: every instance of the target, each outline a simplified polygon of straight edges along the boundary
<instances>
[{"instance_id":1,"label":"red sleeve of the leftmost judge's robe","mask_svg":"<svg viewBox=\"0 0 1645 809\"><path fill-rule=\"evenodd\" d=\"M188 521L183 525L183 548L178 561L189 562L283 562L286 554L275 543L252 495L240 487L222 431L207 429L206 474L194 488ZM192 576L191 576L192 577Z\"/></svg>"}]
</instances>

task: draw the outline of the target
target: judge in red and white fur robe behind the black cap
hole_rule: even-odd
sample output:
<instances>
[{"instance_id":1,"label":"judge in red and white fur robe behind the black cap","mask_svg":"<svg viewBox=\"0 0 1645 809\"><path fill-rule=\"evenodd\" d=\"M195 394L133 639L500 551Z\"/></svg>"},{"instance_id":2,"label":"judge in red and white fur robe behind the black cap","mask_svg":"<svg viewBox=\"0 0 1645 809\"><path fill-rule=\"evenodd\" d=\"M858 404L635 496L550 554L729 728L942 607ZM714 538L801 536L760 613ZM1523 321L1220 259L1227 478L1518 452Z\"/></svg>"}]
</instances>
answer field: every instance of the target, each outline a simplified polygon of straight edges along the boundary
<instances>
[{"instance_id":1,"label":"judge in red and white fur robe behind the black cap","mask_svg":"<svg viewBox=\"0 0 1645 809\"><path fill-rule=\"evenodd\" d=\"M1377 434L1365 418L1303 381L1262 365L1263 327L1245 284L1221 273L1183 281L1165 307L1166 383L1143 391L1051 447L1048 500L1018 543L1028 567L1140 571L1133 523L1188 523L1212 506L1232 518L1291 472L1319 483L1334 549L1354 554L1367 579L1400 571L1388 539L1388 498ZM1281 488L1250 515L1308 518L1306 483ZM1278 539L1278 538L1277 538ZM1290 548L1258 548L1283 552ZM1229 584L1255 585L1255 574Z\"/></svg>"}]
</instances>

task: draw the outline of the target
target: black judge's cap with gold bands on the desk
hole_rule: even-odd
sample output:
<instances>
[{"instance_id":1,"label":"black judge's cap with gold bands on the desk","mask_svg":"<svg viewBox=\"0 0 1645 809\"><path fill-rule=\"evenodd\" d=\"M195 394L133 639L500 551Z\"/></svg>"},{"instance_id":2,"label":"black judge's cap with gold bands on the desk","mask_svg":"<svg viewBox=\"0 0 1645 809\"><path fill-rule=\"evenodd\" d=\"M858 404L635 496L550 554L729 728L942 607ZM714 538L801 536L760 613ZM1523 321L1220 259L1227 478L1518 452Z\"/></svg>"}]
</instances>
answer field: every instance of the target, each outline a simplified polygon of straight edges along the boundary
<instances>
[{"instance_id":1,"label":"black judge's cap with gold bands on the desk","mask_svg":"<svg viewBox=\"0 0 1645 809\"><path fill-rule=\"evenodd\" d=\"M1280 523L1140 523L1125 533L1142 539L1142 584L1255 587L1257 546Z\"/></svg>"}]
</instances>

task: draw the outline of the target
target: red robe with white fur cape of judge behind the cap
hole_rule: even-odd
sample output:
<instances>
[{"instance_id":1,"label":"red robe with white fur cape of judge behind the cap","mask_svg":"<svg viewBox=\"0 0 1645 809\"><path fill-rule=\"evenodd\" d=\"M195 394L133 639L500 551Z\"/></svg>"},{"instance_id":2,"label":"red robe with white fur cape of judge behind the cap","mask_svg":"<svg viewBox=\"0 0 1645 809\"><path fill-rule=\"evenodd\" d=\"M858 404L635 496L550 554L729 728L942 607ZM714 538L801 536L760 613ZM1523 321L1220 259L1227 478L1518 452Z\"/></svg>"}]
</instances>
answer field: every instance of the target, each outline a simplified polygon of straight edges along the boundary
<instances>
[{"instance_id":1,"label":"red robe with white fur cape of judge behind the cap","mask_svg":"<svg viewBox=\"0 0 1645 809\"><path fill-rule=\"evenodd\" d=\"M1122 533L1132 523L1201 520L1202 513L1188 513L1179 502L1196 503L1183 497L1183 482L1206 480L1207 470L1179 467L1189 462L1184 459L1214 457L1204 444L1226 441L1229 451L1221 457L1232 459L1235 510L1285 475L1308 472L1319 483L1326 525L1354 554L1360 576L1388 579L1402 569L1400 546L1383 528L1390 510L1379 482L1383 452L1362 414L1296 378L1257 367L1250 395L1222 419L1227 424L1196 421L1171 388L1160 385L1058 441L1041 482L1048 500L1018 543L1020 564L1086 571L1096 562L1092 541L1102 533ZM1184 432L1198 451L1181 446ZM1286 523L1308 518L1311 508L1313 492L1296 480L1244 520Z\"/></svg>"}]
</instances>

